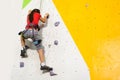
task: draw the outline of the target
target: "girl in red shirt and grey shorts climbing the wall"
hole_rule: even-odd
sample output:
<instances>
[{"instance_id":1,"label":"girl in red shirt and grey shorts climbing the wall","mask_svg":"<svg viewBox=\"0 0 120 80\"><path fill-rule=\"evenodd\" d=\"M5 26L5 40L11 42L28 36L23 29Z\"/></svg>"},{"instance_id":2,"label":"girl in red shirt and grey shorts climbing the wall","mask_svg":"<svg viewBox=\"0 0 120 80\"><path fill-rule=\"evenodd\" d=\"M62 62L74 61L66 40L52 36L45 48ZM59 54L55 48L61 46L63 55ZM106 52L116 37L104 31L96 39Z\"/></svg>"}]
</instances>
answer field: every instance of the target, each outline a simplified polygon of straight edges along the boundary
<instances>
[{"instance_id":1,"label":"girl in red shirt and grey shorts climbing the wall","mask_svg":"<svg viewBox=\"0 0 120 80\"><path fill-rule=\"evenodd\" d=\"M39 9L33 9L32 11L30 10L27 16L27 25L25 27L25 30L23 32L20 32L19 34L21 35L21 45L23 47L23 49L21 50L21 57L27 57L26 50L28 49L28 47L25 45L25 39L31 38L39 54L39 59L41 62L40 69L51 71L52 68L45 64L45 56L43 52L43 47L41 45L42 40L40 39L40 35L38 34L38 31L40 30L40 27L38 25L39 20L45 23L48 17L48 13L46 13L44 17L42 17Z\"/></svg>"}]
</instances>

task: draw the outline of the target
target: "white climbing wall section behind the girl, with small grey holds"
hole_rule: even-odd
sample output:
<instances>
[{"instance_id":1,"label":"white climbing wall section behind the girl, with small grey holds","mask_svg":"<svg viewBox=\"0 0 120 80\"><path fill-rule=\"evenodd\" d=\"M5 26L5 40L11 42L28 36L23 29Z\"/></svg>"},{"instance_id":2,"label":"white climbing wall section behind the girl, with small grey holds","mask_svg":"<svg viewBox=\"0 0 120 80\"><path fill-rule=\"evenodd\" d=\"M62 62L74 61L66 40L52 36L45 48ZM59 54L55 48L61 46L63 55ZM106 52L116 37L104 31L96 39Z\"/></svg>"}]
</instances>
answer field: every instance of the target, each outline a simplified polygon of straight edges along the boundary
<instances>
[{"instance_id":1,"label":"white climbing wall section behind the girl, with small grey holds","mask_svg":"<svg viewBox=\"0 0 120 80\"><path fill-rule=\"evenodd\" d=\"M11 80L90 80L89 69L52 0L30 0L29 4L24 5L21 9L23 1L14 0L13 2L19 5L13 6L19 13L15 15L18 18L16 35L18 31L24 29L29 9L40 8L42 15L48 12L50 17L40 34L43 40L46 63L52 66L58 75L51 77L49 73L42 74L36 50L29 49L27 51L28 58L21 58L20 39L17 35Z\"/></svg>"}]
</instances>

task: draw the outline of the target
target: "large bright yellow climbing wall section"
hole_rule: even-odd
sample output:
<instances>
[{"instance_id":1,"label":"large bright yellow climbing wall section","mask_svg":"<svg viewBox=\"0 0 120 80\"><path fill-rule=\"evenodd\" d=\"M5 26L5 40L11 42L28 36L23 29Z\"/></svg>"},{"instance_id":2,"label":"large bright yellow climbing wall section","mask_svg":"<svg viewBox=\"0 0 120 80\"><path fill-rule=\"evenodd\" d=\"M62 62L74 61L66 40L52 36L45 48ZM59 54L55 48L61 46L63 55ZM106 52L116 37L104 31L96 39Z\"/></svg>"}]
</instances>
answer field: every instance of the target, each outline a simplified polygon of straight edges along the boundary
<instances>
[{"instance_id":1,"label":"large bright yellow climbing wall section","mask_svg":"<svg viewBox=\"0 0 120 80\"><path fill-rule=\"evenodd\" d=\"M91 80L120 80L120 0L53 0Z\"/></svg>"}]
</instances>

